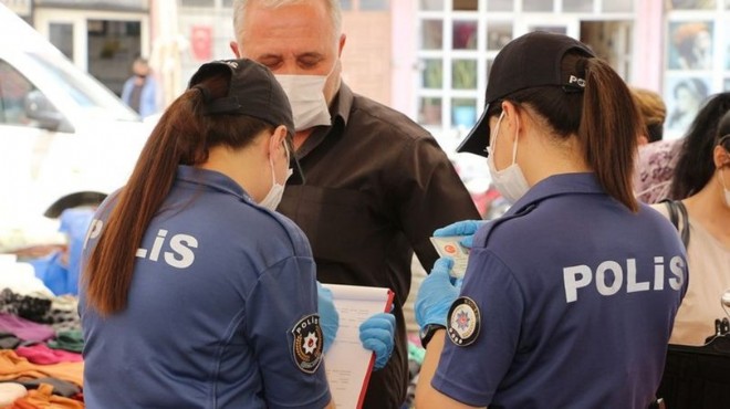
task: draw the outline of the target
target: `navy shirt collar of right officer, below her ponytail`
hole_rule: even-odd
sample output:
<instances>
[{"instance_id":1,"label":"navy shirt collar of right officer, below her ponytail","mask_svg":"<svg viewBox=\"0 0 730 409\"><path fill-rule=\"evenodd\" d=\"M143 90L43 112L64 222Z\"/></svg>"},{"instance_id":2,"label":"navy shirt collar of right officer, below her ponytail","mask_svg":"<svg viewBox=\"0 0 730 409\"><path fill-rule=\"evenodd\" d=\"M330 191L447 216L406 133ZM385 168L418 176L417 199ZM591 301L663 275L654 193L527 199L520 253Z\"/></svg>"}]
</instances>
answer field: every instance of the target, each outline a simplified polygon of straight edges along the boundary
<instances>
[{"instance_id":1,"label":"navy shirt collar of right officer, below her ponytail","mask_svg":"<svg viewBox=\"0 0 730 409\"><path fill-rule=\"evenodd\" d=\"M504 216L519 213L534 203L561 195L606 195L606 191L601 187L593 172L553 175L528 190Z\"/></svg>"}]
</instances>

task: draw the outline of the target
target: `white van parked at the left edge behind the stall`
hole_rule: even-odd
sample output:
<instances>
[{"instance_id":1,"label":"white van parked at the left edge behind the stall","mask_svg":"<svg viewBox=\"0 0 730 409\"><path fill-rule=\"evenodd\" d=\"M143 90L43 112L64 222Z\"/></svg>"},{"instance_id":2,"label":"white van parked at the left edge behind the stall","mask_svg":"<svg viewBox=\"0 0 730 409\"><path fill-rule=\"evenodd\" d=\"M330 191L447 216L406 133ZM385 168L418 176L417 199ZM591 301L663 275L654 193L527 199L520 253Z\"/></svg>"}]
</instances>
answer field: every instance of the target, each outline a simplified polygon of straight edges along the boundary
<instances>
[{"instance_id":1,"label":"white van parked at the left edge behind the stall","mask_svg":"<svg viewBox=\"0 0 730 409\"><path fill-rule=\"evenodd\" d=\"M61 211L123 186L153 127L0 3L0 253L62 241Z\"/></svg>"}]
</instances>

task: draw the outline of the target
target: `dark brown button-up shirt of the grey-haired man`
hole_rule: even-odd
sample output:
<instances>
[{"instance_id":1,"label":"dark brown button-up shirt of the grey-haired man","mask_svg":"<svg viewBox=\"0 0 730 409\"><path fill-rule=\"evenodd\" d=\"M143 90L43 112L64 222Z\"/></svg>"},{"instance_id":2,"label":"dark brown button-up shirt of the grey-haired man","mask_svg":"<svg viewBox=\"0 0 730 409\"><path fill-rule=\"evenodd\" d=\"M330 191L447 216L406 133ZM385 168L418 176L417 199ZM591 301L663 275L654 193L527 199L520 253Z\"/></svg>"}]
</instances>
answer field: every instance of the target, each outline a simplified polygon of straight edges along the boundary
<instances>
[{"instance_id":1,"label":"dark brown button-up shirt of the grey-haired man","mask_svg":"<svg viewBox=\"0 0 730 409\"><path fill-rule=\"evenodd\" d=\"M364 407L399 408L408 386L401 306L413 252L430 271L438 258L434 230L480 216L436 139L408 117L345 84L330 112L332 126L298 149L306 180L290 182L279 211L310 240L321 282L395 292L396 345L387 366L373 373Z\"/></svg>"}]
</instances>

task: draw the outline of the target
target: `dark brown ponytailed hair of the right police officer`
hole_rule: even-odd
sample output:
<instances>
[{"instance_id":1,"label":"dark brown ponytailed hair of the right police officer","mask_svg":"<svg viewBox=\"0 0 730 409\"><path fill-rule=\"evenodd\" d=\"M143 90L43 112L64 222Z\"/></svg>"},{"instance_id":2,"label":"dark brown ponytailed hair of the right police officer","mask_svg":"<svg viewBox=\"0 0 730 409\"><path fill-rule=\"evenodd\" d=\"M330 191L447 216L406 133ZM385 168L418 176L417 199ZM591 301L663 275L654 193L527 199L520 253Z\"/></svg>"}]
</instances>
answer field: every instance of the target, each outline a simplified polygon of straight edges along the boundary
<instances>
[{"instance_id":1,"label":"dark brown ponytailed hair of the right police officer","mask_svg":"<svg viewBox=\"0 0 730 409\"><path fill-rule=\"evenodd\" d=\"M559 137L577 135L583 158L606 193L636 212L632 175L644 123L628 86L604 61L575 52L565 54L561 71L585 78L585 87L530 87L504 99L533 107ZM499 115L500 105L490 104L489 115Z\"/></svg>"}]
</instances>

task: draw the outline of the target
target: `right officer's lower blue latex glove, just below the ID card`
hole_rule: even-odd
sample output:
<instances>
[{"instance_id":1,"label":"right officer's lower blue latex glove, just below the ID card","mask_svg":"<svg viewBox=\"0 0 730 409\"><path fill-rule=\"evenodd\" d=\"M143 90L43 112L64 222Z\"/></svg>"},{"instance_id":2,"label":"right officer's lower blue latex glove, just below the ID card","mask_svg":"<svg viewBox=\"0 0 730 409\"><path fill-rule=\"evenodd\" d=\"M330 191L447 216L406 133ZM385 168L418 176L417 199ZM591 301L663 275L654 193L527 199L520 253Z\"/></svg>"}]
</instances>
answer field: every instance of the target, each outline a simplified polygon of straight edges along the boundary
<instances>
[{"instance_id":1,"label":"right officer's lower blue latex glove, just below the ID card","mask_svg":"<svg viewBox=\"0 0 730 409\"><path fill-rule=\"evenodd\" d=\"M459 296L461 280L450 275L453 260L440 258L434 263L431 273L420 283L414 310L416 322L423 328L426 324L446 326L446 316L451 303Z\"/></svg>"}]
</instances>

